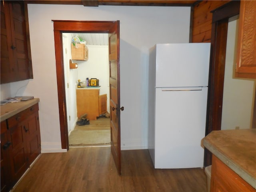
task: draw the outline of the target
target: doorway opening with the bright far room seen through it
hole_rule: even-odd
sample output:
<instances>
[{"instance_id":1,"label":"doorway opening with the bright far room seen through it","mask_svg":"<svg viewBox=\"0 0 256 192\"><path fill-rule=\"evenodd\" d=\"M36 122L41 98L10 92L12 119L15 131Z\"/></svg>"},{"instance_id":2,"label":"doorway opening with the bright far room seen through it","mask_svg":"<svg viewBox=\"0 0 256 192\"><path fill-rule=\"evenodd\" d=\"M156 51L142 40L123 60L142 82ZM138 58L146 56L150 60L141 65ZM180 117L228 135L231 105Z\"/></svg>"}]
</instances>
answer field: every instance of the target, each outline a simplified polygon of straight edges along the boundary
<instances>
[{"instance_id":1,"label":"doorway opening with the bright far room seen through it","mask_svg":"<svg viewBox=\"0 0 256 192\"><path fill-rule=\"evenodd\" d=\"M89 56L88 60L73 59L77 68L70 68L74 39L86 44ZM62 42L69 146L110 146L108 34L62 33ZM98 79L99 85L88 87L86 78ZM95 113L97 116L92 118ZM80 124L84 120L88 123Z\"/></svg>"}]
</instances>

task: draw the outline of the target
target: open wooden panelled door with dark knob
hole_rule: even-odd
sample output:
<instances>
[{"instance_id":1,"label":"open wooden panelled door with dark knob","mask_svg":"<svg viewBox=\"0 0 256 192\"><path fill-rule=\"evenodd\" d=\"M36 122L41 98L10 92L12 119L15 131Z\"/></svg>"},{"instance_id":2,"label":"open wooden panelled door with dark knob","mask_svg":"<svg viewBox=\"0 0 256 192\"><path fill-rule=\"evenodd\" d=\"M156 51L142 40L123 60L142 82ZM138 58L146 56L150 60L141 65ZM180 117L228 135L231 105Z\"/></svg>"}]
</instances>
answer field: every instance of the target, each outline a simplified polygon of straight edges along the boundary
<instances>
[{"instance_id":1,"label":"open wooden panelled door with dark knob","mask_svg":"<svg viewBox=\"0 0 256 192\"><path fill-rule=\"evenodd\" d=\"M109 41L109 84L110 84L110 130L111 153L118 173L121 174L121 136L120 136L120 41L119 21L108 33Z\"/></svg>"}]
</instances>

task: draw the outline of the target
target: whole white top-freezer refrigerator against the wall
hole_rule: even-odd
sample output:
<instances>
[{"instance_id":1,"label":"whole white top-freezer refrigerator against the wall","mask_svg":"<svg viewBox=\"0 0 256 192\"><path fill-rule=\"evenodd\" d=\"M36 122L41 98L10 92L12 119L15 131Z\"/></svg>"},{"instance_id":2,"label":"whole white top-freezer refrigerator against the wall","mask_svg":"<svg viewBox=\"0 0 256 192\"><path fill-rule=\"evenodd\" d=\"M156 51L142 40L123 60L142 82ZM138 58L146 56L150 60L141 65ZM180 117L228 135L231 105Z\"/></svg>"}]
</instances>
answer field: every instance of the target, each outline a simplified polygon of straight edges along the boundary
<instances>
[{"instance_id":1,"label":"whole white top-freezer refrigerator against the wall","mask_svg":"<svg viewBox=\"0 0 256 192\"><path fill-rule=\"evenodd\" d=\"M210 43L150 49L148 148L155 168L203 167Z\"/></svg>"}]
</instances>

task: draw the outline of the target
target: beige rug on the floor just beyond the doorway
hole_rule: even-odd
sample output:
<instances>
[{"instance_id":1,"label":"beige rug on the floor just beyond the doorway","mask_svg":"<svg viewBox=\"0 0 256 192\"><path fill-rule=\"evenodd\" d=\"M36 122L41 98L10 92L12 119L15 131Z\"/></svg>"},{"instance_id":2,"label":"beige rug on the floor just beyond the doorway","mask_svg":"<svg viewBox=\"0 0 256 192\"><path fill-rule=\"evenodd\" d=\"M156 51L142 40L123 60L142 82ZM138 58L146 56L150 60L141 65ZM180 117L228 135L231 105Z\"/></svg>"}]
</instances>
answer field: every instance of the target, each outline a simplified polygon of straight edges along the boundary
<instances>
[{"instance_id":1,"label":"beige rug on the floor just beyond the doorway","mask_svg":"<svg viewBox=\"0 0 256 192\"><path fill-rule=\"evenodd\" d=\"M70 146L109 143L110 130L73 130L69 136Z\"/></svg>"}]
</instances>

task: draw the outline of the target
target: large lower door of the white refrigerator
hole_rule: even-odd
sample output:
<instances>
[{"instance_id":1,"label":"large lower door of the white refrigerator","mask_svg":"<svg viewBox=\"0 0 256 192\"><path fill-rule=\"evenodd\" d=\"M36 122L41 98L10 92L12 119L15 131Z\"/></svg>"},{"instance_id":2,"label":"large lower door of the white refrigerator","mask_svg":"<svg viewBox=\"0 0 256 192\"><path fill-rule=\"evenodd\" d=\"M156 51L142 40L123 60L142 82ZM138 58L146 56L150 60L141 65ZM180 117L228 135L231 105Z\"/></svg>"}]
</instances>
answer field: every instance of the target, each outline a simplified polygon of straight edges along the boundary
<instances>
[{"instance_id":1,"label":"large lower door of the white refrigerator","mask_svg":"<svg viewBox=\"0 0 256 192\"><path fill-rule=\"evenodd\" d=\"M207 90L156 88L155 168L203 167Z\"/></svg>"}]
</instances>

